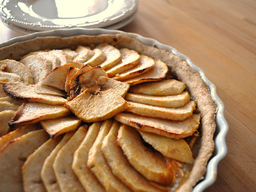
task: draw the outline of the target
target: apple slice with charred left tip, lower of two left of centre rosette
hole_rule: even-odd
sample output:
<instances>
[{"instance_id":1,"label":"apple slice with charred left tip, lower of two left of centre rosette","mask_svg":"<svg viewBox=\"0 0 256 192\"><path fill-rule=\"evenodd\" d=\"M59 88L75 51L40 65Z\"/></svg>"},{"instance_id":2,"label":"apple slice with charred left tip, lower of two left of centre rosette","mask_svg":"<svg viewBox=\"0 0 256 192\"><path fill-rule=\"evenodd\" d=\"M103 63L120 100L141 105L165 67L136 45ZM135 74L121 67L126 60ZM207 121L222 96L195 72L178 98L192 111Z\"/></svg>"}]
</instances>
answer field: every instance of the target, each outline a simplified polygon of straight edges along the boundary
<instances>
[{"instance_id":1,"label":"apple slice with charred left tip, lower of two left of centre rosette","mask_svg":"<svg viewBox=\"0 0 256 192\"><path fill-rule=\"evenodd\" d=\"M37 123L45 119L56 119L70 115L71 111L63 105L47 105L44 103L23 103L15 116L9 121L10 127Z\"/></svg>"}]
</instances>

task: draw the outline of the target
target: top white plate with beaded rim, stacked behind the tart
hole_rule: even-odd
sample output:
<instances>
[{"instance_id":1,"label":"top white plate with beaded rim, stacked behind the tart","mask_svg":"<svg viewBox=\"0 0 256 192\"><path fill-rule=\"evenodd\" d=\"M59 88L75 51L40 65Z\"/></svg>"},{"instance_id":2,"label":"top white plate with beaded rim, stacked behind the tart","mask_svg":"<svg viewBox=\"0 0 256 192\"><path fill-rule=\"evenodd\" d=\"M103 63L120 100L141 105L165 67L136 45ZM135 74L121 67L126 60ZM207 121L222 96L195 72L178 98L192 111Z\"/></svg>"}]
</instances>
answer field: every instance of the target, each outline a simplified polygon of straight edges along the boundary
<instances>
[{"instance_id":1,"label":"top white plate with beaded rim, stacked behind the tart","mask_svg":"<svg viewBox=\"0 0 256 192\"><path fill-rule=\"evenodd\" d=\"M0 16L10 28L28 32L75 27L118 29L132 21L137 6L138 0L3 0Z\"/></svg>"}]
</instances>

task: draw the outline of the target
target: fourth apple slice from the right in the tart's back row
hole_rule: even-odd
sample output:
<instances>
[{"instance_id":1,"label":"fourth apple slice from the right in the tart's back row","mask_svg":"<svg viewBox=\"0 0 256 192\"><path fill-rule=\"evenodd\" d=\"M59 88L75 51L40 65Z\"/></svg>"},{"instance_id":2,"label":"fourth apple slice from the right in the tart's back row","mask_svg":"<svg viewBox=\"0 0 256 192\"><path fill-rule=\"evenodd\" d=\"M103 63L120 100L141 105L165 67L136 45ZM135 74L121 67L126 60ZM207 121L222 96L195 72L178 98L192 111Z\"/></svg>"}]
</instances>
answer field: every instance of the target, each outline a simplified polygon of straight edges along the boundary
<instances>
[{"instance_id":1,"label":"fourth apple slice from the right in the tart's back row","mask_svg":"<svg viewBox=\"0 0 256 192\"><path fill-rule=\"evenodd\" d=\"M106 55L106 60L100 63L102 69L106 70L118 63L121 60L121 53L118 49L110 46L108 44L102 44L97 46L96 48L100 49L104 55Z\"/></svg>"}]
</instances>

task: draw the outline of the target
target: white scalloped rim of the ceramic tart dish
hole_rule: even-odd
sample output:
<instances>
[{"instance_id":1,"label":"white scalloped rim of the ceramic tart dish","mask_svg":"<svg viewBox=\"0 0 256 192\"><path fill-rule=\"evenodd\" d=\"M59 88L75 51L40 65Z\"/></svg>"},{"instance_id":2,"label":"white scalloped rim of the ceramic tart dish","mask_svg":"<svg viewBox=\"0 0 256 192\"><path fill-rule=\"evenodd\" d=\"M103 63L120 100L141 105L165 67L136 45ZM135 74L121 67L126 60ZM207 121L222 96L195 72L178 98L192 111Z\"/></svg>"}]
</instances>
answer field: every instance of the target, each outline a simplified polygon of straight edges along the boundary
<instances>
[{"instance_id":1,"label":"white scalloped rim of the ceramic tart dish","mask_svg":"<svg viewBox=\"0 0 256 192\"><path fill-rule=\"evenodd\" d=\"M139 34L134 33L127 33L122 32L119 30L106 30L101 28L92 28L92 29L86 29L86 28L72 28L72 29L58 29L58 30L52 30L47 32L35 32L33 34L28 34L25 36L20 36L13 38L7 42L4 42L0 44L0 48L9 46L11 44L14 44L16 42L23 42L26 40L34 39L36 37L46 37L46 36L61 36L61 37L70 37L70 36L77 36L77 35L100 35L100 34L124 34L126 36L136 38L140 40L145 45L148 46L156 46L160 49L166 49L169 51L172 51L172 53L178 57L181 57L184 59L193 69L195 69L203 79L203 81L208 85L210 89L210 93L212 98L214 99L214 102L216 103L218 110L215 117L216 122L216 131L214 134L214 152L212 154L212 157L208 161L207 167L206 167L206 173L204 175L204 179L199 181L193 188L193 192L202 192L209 186L211 186L215 181L217 177L217 167L220 160L222 160L226 154L227 154L227 146L225 137L228 132L228 123L224 117L224 110L225 106L220 97L217 95L216 86L206 77L204 71L194 65L192 61L182 53L179 53L176 49L172 48L171 46L164 45L154 39L151 38L145 38Z\"/></svg>"}]
</instances>

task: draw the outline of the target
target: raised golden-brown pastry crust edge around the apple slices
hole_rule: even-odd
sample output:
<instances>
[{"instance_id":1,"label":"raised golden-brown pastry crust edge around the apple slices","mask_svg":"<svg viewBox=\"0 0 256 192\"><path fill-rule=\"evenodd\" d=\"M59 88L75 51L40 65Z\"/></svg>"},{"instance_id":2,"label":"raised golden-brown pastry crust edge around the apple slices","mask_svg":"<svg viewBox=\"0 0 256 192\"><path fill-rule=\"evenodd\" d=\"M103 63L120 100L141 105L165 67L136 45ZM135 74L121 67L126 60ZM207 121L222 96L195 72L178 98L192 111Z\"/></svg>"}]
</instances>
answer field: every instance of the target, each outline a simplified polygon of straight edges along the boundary
<instances>
[{"instance_id":1,"label":"raised golden-brown pastry crust edge around the apple slices","mask_svg":"<svg viewBox=\"0 0 256 192\"><path fill-rule=\"evenodd\" d=\"M215 131L214 115L216 113L216 105L210 96L210 91L207 85L202 81L200 75L192 69L186 61L175 56L168 50L158 49L151 46L146 46L134 38L129 38L124 35L109 35L100 36L74 36L74 37L38 37L32 40L18 42L4 48L0 48L0 60L4 59L20 59L32 51L44 49L63 49L76 48L78 45L113 43L115 41L126 48L134 49L145 55L151 55L155 59L160 59L165 62L168 67L182 79L188 86L190 94L198 102L198 108L202 115L201 130L201 149L195 159L193 169L188 180L177 190L177 192L192 191L193 186L198 182L205 170L206 164L212 151L214 150L213 135Z\"/></svg>"}]
</instances>

